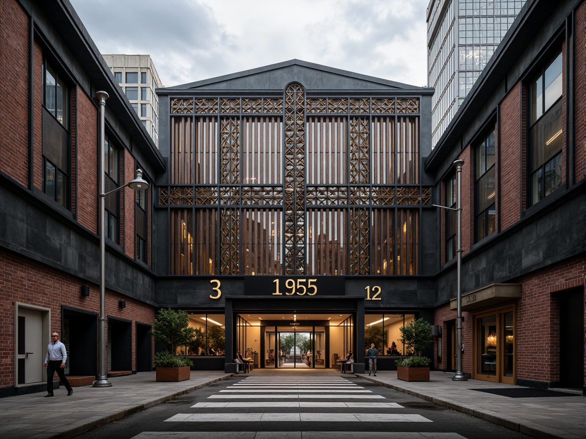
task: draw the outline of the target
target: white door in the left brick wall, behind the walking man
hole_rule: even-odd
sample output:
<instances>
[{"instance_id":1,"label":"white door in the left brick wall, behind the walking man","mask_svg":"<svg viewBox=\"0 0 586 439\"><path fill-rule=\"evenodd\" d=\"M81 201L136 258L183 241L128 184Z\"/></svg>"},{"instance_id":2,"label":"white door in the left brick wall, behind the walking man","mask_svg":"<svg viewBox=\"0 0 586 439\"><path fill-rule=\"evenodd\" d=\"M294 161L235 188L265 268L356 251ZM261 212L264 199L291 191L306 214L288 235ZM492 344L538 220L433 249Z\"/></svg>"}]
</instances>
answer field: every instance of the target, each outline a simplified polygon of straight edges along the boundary
<instances>
[{"instance_id":1,"label":"white door in the left brick wall, behind the walking man","mask_svg":"<svg viewBox=\"0 0 586 439\"><path fill-rule=\"evenodd\" d=\"M38 383L43 378L46 347L43 348L43 313L32 309L18 309L18 341L16 361L18 383ZM20 376L24 373L24 376Z\"/></svg>"}]
</instances>

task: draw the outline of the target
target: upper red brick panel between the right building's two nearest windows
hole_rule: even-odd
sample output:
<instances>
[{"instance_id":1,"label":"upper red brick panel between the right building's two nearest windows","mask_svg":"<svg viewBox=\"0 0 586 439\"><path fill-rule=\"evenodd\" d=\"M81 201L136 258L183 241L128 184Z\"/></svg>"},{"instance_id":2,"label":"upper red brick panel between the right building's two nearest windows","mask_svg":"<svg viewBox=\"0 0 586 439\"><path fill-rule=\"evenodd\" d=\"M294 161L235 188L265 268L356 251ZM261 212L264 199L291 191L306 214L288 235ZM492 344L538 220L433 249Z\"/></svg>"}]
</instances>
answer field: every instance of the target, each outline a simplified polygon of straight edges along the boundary
<instances>
[{"instance_id":1,"label":"upper red brick panel between the right building's two nearest windows","mask_svg":"<svg viewBox=\"0 0 586 439\"><path fill-rule=\"evenodd\" d=\"M520 219L519 183L519 83L507 94L500 104L500 139L497 164L500 161L500 229L505 230Z\"/></svg>"}]
</instances>

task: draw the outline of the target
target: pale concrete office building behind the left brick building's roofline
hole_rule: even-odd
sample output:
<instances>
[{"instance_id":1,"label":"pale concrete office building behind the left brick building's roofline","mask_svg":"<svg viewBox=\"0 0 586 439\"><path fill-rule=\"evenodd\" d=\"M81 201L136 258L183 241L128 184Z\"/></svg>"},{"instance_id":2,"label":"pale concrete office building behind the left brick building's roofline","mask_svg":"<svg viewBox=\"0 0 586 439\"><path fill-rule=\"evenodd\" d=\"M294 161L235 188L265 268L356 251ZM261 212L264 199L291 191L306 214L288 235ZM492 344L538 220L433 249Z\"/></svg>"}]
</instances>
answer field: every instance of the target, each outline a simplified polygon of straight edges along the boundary
<instances>
[{"instance_id":1,"label":"pale concrete office building behind the left brick building's roofline","mask_svg":"<svg viewBox=\"0 0 586 439\"><path fill-rule=\"evenodd\" d=\"M149 55L102 55L116 82L120 84L142 124L159 146L159 98L155 89L162 87Z\"/></svg>"}]
</instances>

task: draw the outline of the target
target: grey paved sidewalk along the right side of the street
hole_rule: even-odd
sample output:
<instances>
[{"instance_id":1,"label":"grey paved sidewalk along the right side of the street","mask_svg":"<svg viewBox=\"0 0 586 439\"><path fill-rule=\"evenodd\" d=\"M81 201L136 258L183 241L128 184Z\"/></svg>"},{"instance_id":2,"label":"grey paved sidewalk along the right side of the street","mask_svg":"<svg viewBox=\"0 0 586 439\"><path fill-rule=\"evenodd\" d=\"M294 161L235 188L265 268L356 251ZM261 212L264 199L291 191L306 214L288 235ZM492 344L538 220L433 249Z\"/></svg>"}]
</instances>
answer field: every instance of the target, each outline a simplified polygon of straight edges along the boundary
<instances>
[{"instance_id":1,"label":"grey paved sidewalk along the right side of the street","mask_svg":"<svg viewBox=\"0 0 586 439\"><path fill-rule=\"evenodd\" d=\"M368 373L356 376L538 439L586 437L584 397L579 391L563 397L508 397L471 389L527 387L472 379L452 381L454 372L431 371L429 382L413 383L397 380L396 371L377 372L376 377Z\"/></svg>"}]
</instances>

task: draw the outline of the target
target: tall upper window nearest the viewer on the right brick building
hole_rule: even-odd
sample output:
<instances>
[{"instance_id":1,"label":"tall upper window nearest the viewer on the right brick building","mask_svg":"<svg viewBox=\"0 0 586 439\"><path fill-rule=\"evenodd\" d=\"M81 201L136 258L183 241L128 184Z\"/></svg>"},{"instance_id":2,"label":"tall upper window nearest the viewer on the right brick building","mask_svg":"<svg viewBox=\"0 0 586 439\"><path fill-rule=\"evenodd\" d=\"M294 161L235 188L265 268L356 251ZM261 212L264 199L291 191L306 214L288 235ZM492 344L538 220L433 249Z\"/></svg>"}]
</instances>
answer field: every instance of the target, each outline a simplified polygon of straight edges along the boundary
<instances>
[{"instance_id":1,"label":"tall upper window nearest the viewer on the right brick building","mask_svg":"<svg viewBox=\"0 0 586 439\"><path fill-rule=\"evenodd\" d=\"M561 52L530 83L527 143L528 204L536 204L562 184L563 93Z\"/></svg>"}]
</instances>

